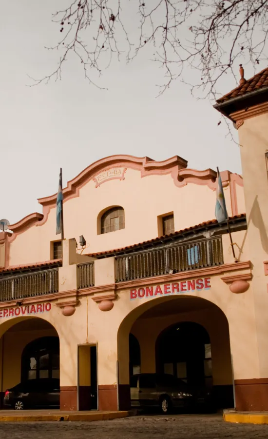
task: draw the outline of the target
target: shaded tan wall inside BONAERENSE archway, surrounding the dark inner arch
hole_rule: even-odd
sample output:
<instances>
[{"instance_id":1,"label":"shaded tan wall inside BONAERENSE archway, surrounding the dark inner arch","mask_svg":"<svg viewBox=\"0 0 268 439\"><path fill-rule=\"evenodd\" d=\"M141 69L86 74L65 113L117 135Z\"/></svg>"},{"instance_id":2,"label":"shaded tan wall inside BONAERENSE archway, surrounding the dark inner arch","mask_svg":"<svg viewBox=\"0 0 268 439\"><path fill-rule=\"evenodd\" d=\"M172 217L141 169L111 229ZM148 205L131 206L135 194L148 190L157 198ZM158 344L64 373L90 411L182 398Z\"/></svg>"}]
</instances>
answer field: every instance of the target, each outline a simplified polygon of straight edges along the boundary
<instances>
[{"instance_id":1,"label":"shaded tan wall inside BONAERENSE archway, surrounding the dark inner arch","mask_svg":"<svg viewBox=\"0 0 268 439\"><path fill-rule=\"evenodd\" d=\"M152 325L148 322L153 321ZM193 321L201 324L211 339L214 356L215 393L217 399L224 399L228 393L232 399L232 367L230 354L229 322L224 312L211 300L191 295L168 296L148 300L138 305L122 320L117 333L119 390L129 386L129 333L132 332L141 343L143 352L151 353L151 361L141 358L141 373L155 372L155 344L159 334L178 321ZM154 363L154 369L153 369ZM120 391L119 391L120 407ZM233 402L232 402L233 404ZM224 402L225 405L225 402ZM122 407L122 405L121 405Z\"/></svg>"}]
</instances>

